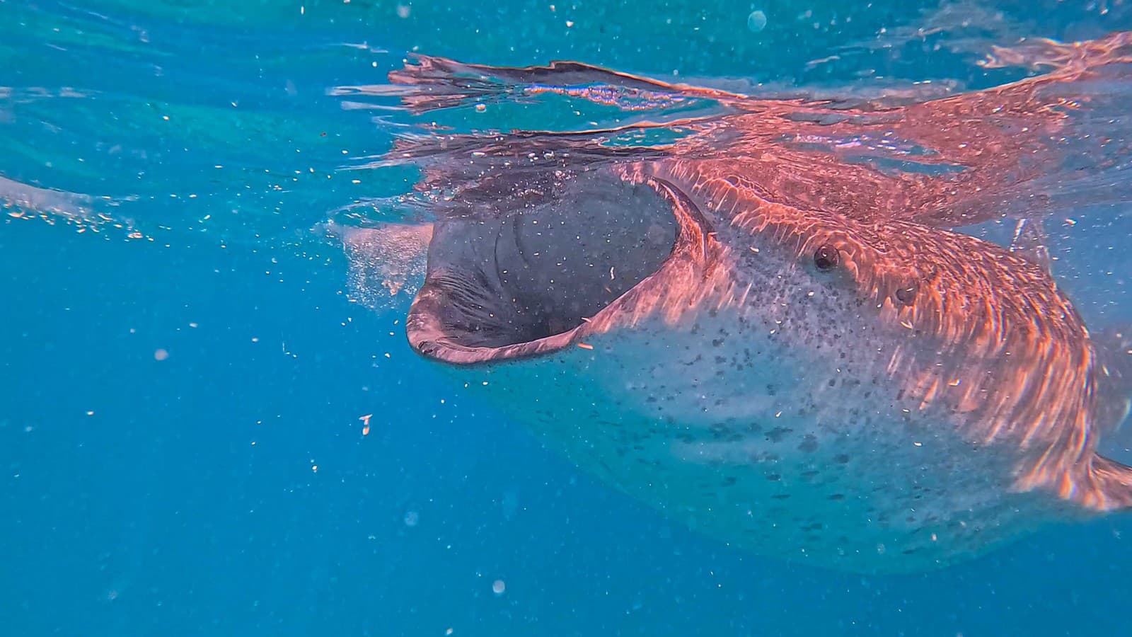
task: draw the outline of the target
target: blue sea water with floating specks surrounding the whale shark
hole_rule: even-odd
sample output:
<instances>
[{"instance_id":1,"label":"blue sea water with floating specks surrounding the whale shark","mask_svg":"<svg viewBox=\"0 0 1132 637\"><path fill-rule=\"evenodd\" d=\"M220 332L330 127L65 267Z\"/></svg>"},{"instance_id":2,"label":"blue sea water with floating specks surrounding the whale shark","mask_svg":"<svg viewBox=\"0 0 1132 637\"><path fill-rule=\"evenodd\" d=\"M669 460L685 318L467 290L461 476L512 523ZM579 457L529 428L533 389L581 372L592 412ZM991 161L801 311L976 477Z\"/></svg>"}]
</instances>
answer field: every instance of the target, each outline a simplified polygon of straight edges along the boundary
<instances>
[{"instance_id":1,"label":"blue sea water with floating specks surrounding the whale shark","mask_svg":"<svg viewBox=\"0 0 1132 637\"><path fill-rule=\"evenodd\" d=\"M988 43L1132 9L555 5L0 0L0 177L58 195L0 209L0 635L1132 632L1126 517L906 577L670 524L417 358L408 301L353 303L314 230L409 188L348 169L414 120L332 94L408 51L981 87L1029 73ZM1132 309L1114 219L1056 232L1090 320Z\"/></svg>"}]
</instances>

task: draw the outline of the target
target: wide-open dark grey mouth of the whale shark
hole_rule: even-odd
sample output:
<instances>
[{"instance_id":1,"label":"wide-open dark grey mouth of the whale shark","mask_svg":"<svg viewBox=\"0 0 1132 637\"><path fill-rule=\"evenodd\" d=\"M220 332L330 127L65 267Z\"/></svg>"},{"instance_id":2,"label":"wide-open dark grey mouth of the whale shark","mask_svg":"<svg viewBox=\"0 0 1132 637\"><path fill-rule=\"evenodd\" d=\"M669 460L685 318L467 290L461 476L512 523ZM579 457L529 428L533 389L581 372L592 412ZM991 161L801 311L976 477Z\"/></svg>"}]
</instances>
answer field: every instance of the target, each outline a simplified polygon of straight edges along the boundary
<instances>
[{"instance_id":1,"label":"wide-open dark grey mouth of the whale shark","mask_svg":"<svg viewBox=\"0 0 1132 637\"><path fill-rule=\"evenodd\" d=\"M406 322L413 348L448 363L560 349L654 278L688 233L666 188L594 171L552 190L436 224Z\"/></svg>"}]
</instances>

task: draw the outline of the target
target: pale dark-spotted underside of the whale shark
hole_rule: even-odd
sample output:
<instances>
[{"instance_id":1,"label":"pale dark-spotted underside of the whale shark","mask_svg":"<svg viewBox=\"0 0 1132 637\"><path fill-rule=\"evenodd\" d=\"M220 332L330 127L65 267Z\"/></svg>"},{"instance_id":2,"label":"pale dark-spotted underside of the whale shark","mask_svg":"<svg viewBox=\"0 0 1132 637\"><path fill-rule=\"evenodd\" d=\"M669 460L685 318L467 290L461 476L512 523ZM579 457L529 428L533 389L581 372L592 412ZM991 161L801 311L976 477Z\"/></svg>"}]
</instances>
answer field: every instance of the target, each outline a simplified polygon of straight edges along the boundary
<instances>
[{"instance_id":1,"label":"pale dark-spotted underside of the whale shark","mask_svg":"<svg viewBox=\"0 0 1132 637\"><path fill-rule=\"evenodd\" d=\"M975 557L1064 507L1010 490L976 449L884 387L830 387L814 360L727 313L637 325L542 358L466 370L582 469L728 544L858 572ZM731 338L715 337L731 330ZM724 333L719 332L719 333ZM758 339L757 341L754 339ZM760 342L758 355L751 343ZM745 353L746 350L746 353Z\"/></svg>"}]
</instances>

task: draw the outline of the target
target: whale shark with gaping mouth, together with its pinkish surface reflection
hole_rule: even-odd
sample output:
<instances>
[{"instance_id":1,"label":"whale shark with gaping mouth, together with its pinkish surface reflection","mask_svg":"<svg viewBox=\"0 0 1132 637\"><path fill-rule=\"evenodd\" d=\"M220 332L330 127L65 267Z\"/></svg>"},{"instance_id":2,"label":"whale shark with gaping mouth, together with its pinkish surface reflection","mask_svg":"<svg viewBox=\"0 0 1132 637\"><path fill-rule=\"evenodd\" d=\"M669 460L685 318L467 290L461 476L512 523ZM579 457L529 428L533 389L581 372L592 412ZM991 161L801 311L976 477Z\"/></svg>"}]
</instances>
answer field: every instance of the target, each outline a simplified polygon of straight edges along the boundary
<instances>
[{"instance_id":1,"label":"whale shark with gaping mouth, together with its pinkish surface reflection","mask_svg":"<svg viewBox=\"0 0 1132 637\"><path fill-rule=\"evenodd\" d=\"M1045 76L856 110L422 59L392 76L422 112L482 99L488 78L734 112L641 146L603 143L624 130L400 143L419 188L451 194L410 343L488 381L578 466L764 554L918 571L1127 508L1132 469L1096 453L1124 415L1108 353L1038 261L944 229L1019 197L1036 215L1053 182L1098 201L1061 153L1123 156L1123 129L1079 143L1064 94L1123 82L1127 42L1050 44Z\"/></svg>"}]
</instances>

